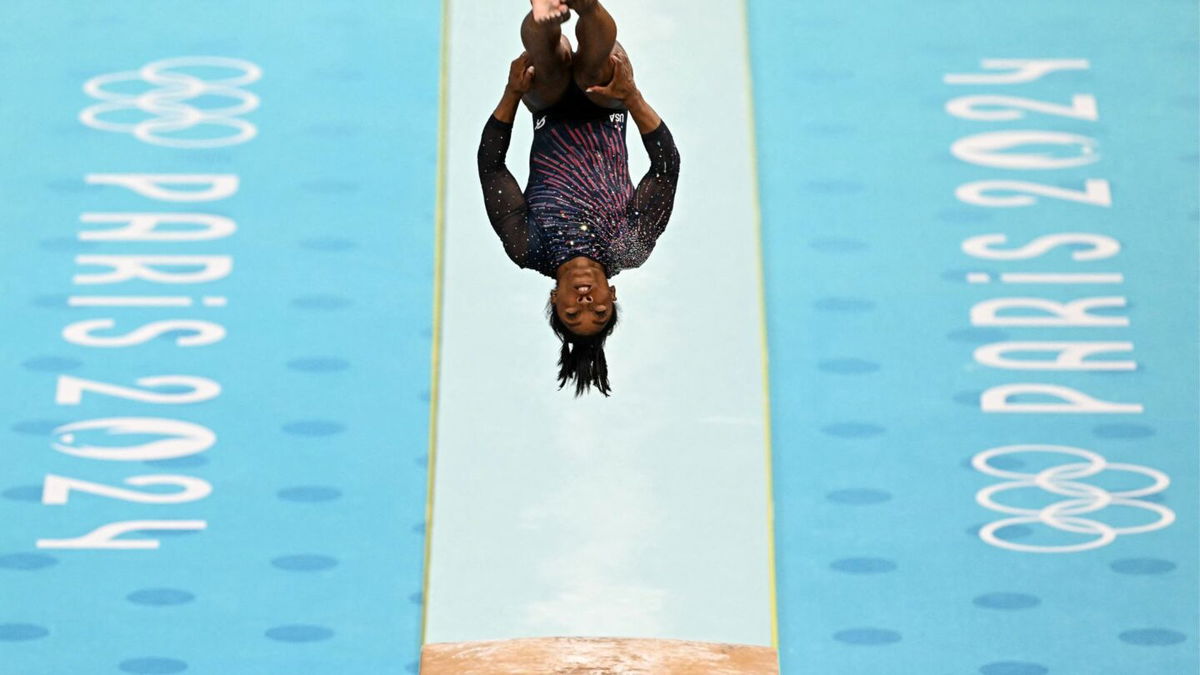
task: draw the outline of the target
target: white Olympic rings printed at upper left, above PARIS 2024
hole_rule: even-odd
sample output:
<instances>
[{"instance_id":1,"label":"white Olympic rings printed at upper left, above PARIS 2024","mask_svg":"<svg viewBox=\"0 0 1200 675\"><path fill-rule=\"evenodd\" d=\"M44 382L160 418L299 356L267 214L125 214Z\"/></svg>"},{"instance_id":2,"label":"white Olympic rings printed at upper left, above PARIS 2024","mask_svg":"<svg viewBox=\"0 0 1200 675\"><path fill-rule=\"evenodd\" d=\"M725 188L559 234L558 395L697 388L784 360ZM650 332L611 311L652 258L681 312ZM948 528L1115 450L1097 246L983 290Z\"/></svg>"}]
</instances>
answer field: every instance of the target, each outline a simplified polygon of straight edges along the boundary
<instances>
[{"instance_id":1,"label":"white Olympic rings printed at upper left, above PARIS 2024","mask_svg":"<svg viewBox=\"0 0 1200 675\"><path fill-rule=\"evenodd\" d=\"M222 67L235 68L240 74L222 79L204 80L196 76L173 68ZM94 77L84 83L83 90L101 102L79 113L79 121L103 131L132 133L136 138L166 145L168 148L218 148L235 145L253 138L258 130L246 120L235 115L258 108L258 96L238 89L241 85L257 82L263 70L241 59L226 56L178 56L163 59L142 66L136 71L122 71ZM140 80L154 85L142 94L120 94L107 91L106 85L116 82ZM234 98L236 103L223 108L200 109L188 104L188 98L199 96L220 96ZM116 123L101 119L113 110L138 109L150 113L150 119L137 123ZM232 129L232 133L211 138L180 138L163 136L200 125L216 125Z\"/></svg>"}]
</instances>

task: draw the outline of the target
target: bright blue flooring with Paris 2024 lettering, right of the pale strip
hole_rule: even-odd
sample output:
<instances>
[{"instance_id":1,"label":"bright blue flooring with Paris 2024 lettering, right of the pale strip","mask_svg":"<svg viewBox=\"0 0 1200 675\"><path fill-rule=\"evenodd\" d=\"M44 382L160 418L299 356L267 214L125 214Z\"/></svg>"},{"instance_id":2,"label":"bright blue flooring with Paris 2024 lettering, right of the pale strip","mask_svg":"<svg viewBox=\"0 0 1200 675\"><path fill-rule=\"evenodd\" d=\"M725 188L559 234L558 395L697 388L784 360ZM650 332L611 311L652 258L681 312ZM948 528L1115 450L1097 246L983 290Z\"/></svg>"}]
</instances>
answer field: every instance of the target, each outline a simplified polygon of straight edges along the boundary
<instances>
[{"instance_id":1,"label":"bright blue flooring with Paris 2024 lettering, right of the pale strip","mask_svg":"<svg viewBox=\"0 0 1200 675\"><path fill-rule=\"evenodd\" d=\"M1195 4L754 1L751 49L784 671L1195 674Z\"/></svg>"}]
</instances>

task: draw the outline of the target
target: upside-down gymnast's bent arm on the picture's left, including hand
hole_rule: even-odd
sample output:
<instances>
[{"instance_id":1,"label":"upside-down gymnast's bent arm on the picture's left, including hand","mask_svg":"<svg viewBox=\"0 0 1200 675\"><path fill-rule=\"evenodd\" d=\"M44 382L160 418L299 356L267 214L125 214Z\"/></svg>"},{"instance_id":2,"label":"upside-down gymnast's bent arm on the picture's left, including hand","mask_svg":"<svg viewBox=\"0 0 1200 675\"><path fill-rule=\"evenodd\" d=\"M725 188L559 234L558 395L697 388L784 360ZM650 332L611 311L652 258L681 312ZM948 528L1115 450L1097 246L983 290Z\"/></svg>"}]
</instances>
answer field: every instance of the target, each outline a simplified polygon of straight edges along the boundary
<instances>
[{"instance_id":1,"label":"upside-down gymnast's bent arm on the picture's left, including hand","mask_svg":"<svg viewBox=\"0 0 1200 675\"><path fill-rule=\"evenodd\" d=\"M504 165L512 139L512 121L516 119L521 96L533 82L529 56L522 53L509 68L509 84L496 112L484 126L479 142L479 183L484 189L484 205L492 229L504 244L504 252L520 267L528 259L529 229L526 223L526 199L521 186Z\"/></svg>"}]
</instances>

